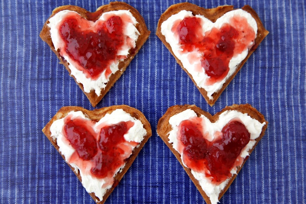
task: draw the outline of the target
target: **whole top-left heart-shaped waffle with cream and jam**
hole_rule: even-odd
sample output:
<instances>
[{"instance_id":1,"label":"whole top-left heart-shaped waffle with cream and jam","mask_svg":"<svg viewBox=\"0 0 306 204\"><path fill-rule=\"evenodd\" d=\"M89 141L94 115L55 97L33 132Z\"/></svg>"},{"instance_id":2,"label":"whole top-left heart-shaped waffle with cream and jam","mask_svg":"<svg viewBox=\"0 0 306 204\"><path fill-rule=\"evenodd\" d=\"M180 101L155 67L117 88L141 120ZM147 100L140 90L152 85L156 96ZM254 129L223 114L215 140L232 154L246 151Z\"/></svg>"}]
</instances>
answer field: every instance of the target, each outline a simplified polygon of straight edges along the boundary
<instances>
[{"instance_id":1,"label":"whole top-left heart-shaped waffle with cream and jam","mask_svg":"<svg viewBox=\"0 0 306 204\"><path fill-rule=\"evenodd\" d=\"M111 2L93 13L60 6L40 32L94 107L149 35L140 13L124 2Z\"/></svg>"}]
</instances>

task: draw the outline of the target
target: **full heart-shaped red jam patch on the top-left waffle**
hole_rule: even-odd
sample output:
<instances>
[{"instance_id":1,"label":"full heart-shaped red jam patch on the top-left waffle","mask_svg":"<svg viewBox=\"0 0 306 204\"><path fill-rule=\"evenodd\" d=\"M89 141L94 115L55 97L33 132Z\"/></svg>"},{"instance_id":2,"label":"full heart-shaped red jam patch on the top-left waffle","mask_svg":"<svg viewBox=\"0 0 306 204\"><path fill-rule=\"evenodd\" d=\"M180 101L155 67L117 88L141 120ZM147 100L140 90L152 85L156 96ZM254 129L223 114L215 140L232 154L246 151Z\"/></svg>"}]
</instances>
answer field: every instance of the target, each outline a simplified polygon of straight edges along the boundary
<instances>
[{"instance_id":1,"label":"full heart-shaped red jam patch on the top-left waffle","mask_svg":"<svg viewBox=\"0 0 306 204\"><path fill-rule=\"evenodd\" d=\"M65 43L63 50L87 77L96 79L106 70L107 78L111 73L110 65L126 57L117 56L124 43L124 23L121 17L111 16L94 28L91 24L78 14L66 17L59 27L59 34Z\"/></svg>"}]
</instances>

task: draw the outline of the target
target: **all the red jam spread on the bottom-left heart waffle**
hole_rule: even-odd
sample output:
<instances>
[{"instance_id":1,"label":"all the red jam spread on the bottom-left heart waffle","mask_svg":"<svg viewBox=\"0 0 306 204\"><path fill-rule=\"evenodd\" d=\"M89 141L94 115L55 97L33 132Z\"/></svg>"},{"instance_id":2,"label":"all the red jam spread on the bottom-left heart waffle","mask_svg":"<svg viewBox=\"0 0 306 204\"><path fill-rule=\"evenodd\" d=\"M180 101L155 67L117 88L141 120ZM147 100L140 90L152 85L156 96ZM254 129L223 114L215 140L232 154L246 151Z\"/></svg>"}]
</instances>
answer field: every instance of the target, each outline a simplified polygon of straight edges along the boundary
<instances>
[{"instance_id":1,"label":"all the red jam spread on the bottom-left heart waffle","mask_svg":"<svg viewBox=\"0 0 306 204\"><path fill-rule=\"evenodd\" d=\"M99 132L94 130L94 125L95 121L65 117L63 135L75 150L68 162L80 169L90 168L90 174L96 178L113 178L129 158L132 148L139 144L124 139L134 122L102 126Z\"/></svg>"}]
</instances>

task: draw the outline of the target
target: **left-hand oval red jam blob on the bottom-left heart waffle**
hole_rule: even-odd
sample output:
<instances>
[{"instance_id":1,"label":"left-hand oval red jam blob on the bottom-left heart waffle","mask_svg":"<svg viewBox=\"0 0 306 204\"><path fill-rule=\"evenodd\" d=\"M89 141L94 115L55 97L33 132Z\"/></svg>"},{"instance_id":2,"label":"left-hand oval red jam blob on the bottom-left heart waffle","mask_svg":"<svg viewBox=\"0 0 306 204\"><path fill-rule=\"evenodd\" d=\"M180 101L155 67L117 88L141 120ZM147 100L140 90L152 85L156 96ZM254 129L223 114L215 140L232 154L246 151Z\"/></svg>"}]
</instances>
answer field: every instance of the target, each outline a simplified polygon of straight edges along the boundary
<instances>
[{"instance_id":1,"label":"left-hand oval red jam blob on the bottom-left heart waffle","mask_svg":"<svg viewBox=\"0 0 306 204\"><path fill-rule=\"evenodd\" d=\"M83 160L92 159L98 152L97 141L91 127L81 118L68 119L64 125L64 136Z\"/></svg>"}]
</instances>

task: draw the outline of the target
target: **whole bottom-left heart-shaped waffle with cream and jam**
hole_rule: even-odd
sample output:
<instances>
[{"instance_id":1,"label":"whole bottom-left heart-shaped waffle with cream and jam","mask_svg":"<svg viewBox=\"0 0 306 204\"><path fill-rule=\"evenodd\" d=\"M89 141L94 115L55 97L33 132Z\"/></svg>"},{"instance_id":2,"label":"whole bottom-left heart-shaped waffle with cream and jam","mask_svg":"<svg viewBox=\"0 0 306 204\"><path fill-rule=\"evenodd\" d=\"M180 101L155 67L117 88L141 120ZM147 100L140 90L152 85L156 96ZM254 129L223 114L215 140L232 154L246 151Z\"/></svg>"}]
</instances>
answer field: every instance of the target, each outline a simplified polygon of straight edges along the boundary
<instances>
[{"instance_id":1,"label":"whole bottom-left heart-shaped waffle with cream and jam","mask_svg":"<svg viewBox=\"0 0 306 204\"><path fill-rule=\"evenodd\" d=\"M62 107L43 128L96 203L104 203L152 135L143 113L126 105Z\"/></svg>"}]
</instances>

